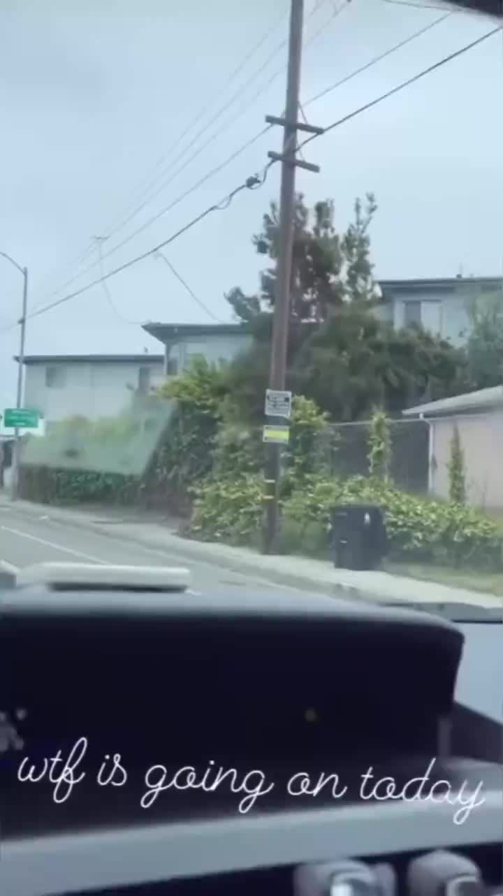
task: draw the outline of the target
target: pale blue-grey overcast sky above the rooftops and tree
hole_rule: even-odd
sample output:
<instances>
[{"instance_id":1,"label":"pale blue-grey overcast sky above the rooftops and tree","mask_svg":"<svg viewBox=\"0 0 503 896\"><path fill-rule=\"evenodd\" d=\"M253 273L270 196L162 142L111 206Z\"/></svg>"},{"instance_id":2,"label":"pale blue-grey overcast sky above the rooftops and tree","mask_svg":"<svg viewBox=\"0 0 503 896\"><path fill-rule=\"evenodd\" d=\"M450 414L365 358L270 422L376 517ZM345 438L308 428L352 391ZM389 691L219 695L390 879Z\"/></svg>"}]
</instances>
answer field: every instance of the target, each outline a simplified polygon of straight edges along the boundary
<instances>
[{"instance_id":1,"label":"pale blue-grey overcast sky above the rooftops and tree","mask_svg":"<svg viewBox=\"0 0 503 896\"><path fill-rule=\"evenodd\" d=\"M263 167L270 149L279 150L281 133L274 129L142 228L259 134L265 115L281 114L287 5L0 0L0 250L28 266L31 311L99 276L92 237L110 235L102 244L103 267L115 268L223 199ZM453 13L309 101L443 14L386 0L306 0L302 100L309 121L330 124L495 25ZM321 172L299 171L298 188L311 203L333 197L340 228L351 218L355 196L376 194L371 239L377 277L452 277L460 267L466 276L497 275L503 262L502 88L499 33L313 141L305 158ZM251 237L278 184L277 166L260 190L238 194L226 211L209 215L166 248L217 319L230 319L228 289L257 286L260 260ZM138 228L141 233L112 251ZM158 258L107 286L108 295L99 284L30 320L28 352L156 351L160 346L139 322L211 320ZM11 358L19 340L17 329L6 328L20 307L21 276L0 258L3 405L13 401Z\"/></svg>"}]
</instances>

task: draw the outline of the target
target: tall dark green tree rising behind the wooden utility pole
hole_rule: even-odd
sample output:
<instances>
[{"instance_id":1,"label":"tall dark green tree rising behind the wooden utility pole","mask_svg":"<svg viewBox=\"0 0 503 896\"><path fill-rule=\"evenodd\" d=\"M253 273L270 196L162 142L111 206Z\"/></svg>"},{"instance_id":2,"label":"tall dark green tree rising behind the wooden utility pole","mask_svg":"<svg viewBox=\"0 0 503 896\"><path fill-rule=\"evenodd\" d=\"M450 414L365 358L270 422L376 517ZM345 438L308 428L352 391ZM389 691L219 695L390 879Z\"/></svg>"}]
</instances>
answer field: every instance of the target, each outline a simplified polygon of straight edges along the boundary
<instances>
[{"instance_id":1,"label":"tall dark green tree rising behind the wooden utility pole","mask_svg":"<svg viewBox=\"0 0 503 896\"><path fill-rule=\"evenodd\" d=\"M396 332L372 314L379 300L372 276L372 194L354 203L354 220L342 235L334 202L308 209L297 195L294 217L292 304L287 388L316 401L334 420L368 418L375 406L388 413L463 391L465 354L421 328ZM268 383L276 289L279 215L271 203L253 245L271 266L260 292L234 288L226 296L235 316L249 324L252 349L229 367L243 418L260 422Z\"/></svg>"}]
</instances>

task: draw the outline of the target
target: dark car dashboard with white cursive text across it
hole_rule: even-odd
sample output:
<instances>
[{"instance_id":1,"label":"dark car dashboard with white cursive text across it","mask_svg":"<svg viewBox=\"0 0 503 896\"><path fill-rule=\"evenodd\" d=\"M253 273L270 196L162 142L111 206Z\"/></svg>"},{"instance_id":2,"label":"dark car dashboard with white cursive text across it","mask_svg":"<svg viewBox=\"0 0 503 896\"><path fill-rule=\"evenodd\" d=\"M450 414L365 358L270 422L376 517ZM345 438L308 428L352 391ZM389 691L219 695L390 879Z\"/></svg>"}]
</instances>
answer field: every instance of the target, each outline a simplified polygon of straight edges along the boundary
<instances>
[{"instance_id":1,"label":"dark car dashboard with white cursive text across it","mask_svg":"<svg viewBox=\"0 0 503 896\"><path fill-rule=\"evenodd\" d=\"M0 755L2 896L503 896L499 613L196 595L182 580L5 592L0 705L26 718L21 749ZM106 800L84 783L57 805L50 781L15 778L26 751L81 736L93 767L122 750L127 788ZM141 810L141 770L166 756L198 774L260 769L275 788L245 812L232 787ZM369 769L384 783L362 798ZM335 780L290 787L336 773L337 800ZM406 797L422 776L430 798Z\"/></svg>"}]
</instances>

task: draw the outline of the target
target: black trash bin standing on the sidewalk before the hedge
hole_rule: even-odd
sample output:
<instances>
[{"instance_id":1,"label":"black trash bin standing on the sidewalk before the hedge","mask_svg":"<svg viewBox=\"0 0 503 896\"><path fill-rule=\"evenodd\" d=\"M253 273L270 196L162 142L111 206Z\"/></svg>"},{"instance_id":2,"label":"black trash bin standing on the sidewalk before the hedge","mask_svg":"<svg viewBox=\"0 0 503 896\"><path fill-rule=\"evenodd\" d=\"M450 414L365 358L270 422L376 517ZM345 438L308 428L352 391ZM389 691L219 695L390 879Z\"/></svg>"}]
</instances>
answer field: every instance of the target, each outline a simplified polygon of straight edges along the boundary
<instances>
[{"instance_id":1,"label":"black trash bin standing on the sidewalk before the hedge","mask_svg":"<svg viewBox=\"0 0 503 896\"><path fill-rule=\"evenodd\" d=\"M376 569L386 555L388 538L376 504L338 504L332 510L332 551L338 569Z\"/></svg>"}]
</instances>

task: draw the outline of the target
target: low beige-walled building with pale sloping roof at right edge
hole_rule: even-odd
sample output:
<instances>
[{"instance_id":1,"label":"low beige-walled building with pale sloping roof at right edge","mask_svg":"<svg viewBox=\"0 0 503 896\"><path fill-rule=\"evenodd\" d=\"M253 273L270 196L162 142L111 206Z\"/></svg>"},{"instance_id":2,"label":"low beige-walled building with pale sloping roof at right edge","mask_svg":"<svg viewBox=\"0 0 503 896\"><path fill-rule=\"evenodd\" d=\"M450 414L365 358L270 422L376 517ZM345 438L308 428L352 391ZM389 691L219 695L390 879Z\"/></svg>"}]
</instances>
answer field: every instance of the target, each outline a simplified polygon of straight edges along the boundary
<instances>
[{"instance_id":1,"label":"low beige-walled building with pale sloping roof at right edge","mask_svg":"<svg viewBox=\"0 0 503 896\"><path fill-rule=\"evenodd\" d=\"M455 428L465 457L469 504L503 509L503 385L403 411L429 426L429 491L448 498L448 462Z\"/></svg>"}]
</instances>

